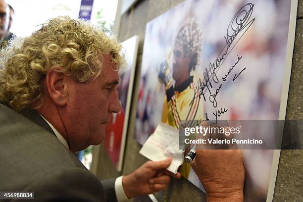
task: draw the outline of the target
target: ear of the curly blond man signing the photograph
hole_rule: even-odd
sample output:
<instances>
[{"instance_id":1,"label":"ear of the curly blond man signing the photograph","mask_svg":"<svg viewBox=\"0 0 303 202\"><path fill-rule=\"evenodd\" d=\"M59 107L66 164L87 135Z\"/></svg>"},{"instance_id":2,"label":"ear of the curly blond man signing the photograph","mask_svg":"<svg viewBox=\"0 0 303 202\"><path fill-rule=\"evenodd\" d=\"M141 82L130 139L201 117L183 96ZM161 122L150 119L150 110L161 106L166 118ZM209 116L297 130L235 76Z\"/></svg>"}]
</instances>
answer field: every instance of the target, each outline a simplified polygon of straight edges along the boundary
<instances>
[{"instance_id":1,"label":"ear of the curly blond man signing the photograph","mask_svg":"<svg viewBox=\"0 0 303 202\"><path fill-rule=\"evenodd\" d=\"M64 106L68 100L66 75L56 69L50 69L46 75L46 87L51 100L58 106Z\"/></svg>"}]
</instances>

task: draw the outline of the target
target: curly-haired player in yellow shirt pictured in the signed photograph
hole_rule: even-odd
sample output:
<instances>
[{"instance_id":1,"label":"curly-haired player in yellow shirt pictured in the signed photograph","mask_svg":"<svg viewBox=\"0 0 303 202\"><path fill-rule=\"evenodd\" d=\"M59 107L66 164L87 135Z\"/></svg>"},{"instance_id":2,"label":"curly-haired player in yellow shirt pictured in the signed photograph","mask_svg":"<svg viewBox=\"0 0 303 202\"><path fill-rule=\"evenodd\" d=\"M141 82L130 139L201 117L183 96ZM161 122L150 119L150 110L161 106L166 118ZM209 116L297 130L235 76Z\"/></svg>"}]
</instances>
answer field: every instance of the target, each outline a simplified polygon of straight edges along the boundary
<instances>
[{"instance_id":1,"label":"curly-haired player in yellow shirt pictured in the signed photograph","mask_svg":"<svg viewBox=\"0 0 303 202\"><path fill-rule=\"evenodd\" d=\"M193 18L188 18L176 34L173 44L172 73L170 52L160 64L159 81L165 86L161 121L179 128L181 120L203 120L203 104L192 71L200 62L202 31ZM174 83L174 85L173 85ZM188 179L190 164L183 164L181 174Z\"/></svg>"}]
</instances>

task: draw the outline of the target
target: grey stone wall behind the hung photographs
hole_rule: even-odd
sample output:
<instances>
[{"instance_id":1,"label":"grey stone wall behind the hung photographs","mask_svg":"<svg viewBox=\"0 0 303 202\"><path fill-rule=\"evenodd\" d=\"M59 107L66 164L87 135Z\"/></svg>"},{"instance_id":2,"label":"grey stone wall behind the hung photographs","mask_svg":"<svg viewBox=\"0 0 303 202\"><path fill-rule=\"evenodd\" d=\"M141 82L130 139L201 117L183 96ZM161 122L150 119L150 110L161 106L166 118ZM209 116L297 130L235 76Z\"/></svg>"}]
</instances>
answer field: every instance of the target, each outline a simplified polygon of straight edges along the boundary
<instances>
[{"instance_id":1,"label":"grey stone wall behind the hung photographs","mask_svg":"<svg viewBox=\"0 0 303 202\"><path fill-rule=\"evenodd\" d=\"M140 36L139 51L136 63L135 87L139 86L140 67L142 63L142 52L145 36L146 23L164 13L170 8L183 2L183 0L138 0L137 3L121 18L120 41L124 41L134 35ZM303 0L299 0L296 39L293 55L291 82L287 104L286 119L303 119ZM133 95L137 95L138 88L134 89ZM131 104L130 123L127 135L124 165L121 173L112 166L104 148L100 148L100 158L97 176L100 179L113 178L131 173L140 167L148 159L139 154L141 146L134 140L136 118L136 98ZM275 202L303 201L303 151L282 150L279 161L278 175L276 180L274 200ZM301 196L300 196L301 195ZM171 202L201 202L205 201L205 194L196 186L185 179L174 180L165 191L158 193L159 201ZM301 199L301 200L300 200Z\"/></svg>"}]
</instances>

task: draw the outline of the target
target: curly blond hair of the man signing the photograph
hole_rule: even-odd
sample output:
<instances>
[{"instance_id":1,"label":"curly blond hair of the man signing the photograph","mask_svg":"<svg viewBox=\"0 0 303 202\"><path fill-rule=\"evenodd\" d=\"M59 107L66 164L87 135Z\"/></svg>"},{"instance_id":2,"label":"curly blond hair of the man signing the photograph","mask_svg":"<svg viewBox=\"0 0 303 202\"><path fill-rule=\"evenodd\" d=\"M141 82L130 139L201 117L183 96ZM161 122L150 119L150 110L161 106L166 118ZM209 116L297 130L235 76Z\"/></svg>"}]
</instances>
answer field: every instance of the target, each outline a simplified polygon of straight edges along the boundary
<instances>
[{"instance_id":1,"label":"curly blond hair of the man signing the photograph","mask_svg":"<svg viewBox=\"0 0 303 202\"><path fill-rule=\"evenodd\" d=\"M80 19L50 19L30 37L15 39L1 50L0 101L16 111L41 101L42 81L50 68L58 66L76 81L90 82L100 75L105 54L111 55L117 69L125 62L115 37Z\"/></svg>"}]
</instances>

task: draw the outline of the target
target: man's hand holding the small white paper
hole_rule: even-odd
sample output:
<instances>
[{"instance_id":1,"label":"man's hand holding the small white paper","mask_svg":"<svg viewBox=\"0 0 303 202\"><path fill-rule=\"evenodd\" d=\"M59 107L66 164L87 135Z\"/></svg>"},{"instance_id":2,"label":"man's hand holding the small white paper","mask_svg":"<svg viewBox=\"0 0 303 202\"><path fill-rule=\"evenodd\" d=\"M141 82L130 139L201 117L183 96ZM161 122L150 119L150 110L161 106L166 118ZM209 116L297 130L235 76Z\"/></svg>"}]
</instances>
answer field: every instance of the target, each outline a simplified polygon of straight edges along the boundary
<instances>
[{"instance_id":1,"label":"man's hand holding the small white paper","mask_svg":"<svg viewBox=\"0 0 303 202\"><path fill-rule=\"evenodd\" d=\"M122 184L126 196L130 199L165 190L170 182L170 176L180 179L180 173L173 174L166 170L171 161L172 158L155 162L148 161L133 173L124 176Z\"/></svg>"}]
</instances>

